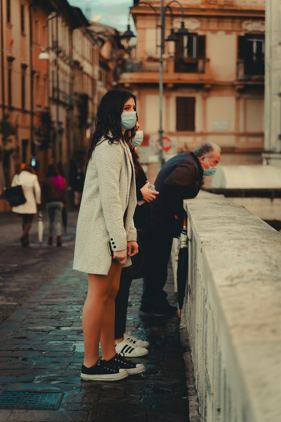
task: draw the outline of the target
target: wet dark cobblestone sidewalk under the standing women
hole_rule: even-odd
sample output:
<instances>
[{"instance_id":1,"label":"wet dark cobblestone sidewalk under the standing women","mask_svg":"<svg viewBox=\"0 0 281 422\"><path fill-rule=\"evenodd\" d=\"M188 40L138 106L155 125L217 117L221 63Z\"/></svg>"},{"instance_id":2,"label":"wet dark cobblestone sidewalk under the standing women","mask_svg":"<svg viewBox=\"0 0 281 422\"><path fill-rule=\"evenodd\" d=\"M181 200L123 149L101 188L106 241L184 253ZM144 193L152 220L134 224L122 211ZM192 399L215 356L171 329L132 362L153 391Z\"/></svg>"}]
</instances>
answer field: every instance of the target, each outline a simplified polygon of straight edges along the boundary
<instances>
[{"instance_id":1,"label":"wet dark cobblestone sidewalk under the standing women","mask_svg":"<svg viewBox=\"0 0 281 422\"><path fill-rule=\"evenodd\" d=\"M36 289L36 279L34 280ZM64 393L57 410L3 409L0 422L186 422L184 352L179 319L138 317L142 280L133 281L128 331L150 342L143 375L83 382L81 314L87 276L64 268L0 326L0 391ZM176 304L171 270L166 286Z\"/></svg>"}]
</instances>

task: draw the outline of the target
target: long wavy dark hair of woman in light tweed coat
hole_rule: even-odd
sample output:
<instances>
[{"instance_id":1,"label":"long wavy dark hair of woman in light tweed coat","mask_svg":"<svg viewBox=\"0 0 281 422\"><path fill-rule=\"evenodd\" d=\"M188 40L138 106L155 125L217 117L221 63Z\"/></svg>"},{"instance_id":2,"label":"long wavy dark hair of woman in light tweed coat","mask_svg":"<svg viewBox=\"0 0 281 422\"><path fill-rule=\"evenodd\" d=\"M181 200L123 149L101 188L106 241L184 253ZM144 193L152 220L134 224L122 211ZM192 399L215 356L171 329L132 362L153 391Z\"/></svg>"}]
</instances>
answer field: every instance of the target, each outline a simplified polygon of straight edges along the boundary
<instances>
[{"instance_id":1,"label":"long wavy dark hair of woman in light tweed coat","mask_svg":"<svg viewBox=\"0 0 281 422\"><path fill-rule=\"evenodd\" d=\"M121 126L121 114L123 113L123 107L130 98L134 98L136 104L135 95L121 89L111 89L111 91L108 91L102 97L96 114L96 122L91 145L86 154L86 162L83 169L85 173L93 151L96 146L99 145L102 137L104 137L104 141L108 140L108 143L124 143L134 138L136 133L135 128L126 130L123 135ZM111 132L111 136L109 135L109 132Z\"/></svg>"}]
</instances>

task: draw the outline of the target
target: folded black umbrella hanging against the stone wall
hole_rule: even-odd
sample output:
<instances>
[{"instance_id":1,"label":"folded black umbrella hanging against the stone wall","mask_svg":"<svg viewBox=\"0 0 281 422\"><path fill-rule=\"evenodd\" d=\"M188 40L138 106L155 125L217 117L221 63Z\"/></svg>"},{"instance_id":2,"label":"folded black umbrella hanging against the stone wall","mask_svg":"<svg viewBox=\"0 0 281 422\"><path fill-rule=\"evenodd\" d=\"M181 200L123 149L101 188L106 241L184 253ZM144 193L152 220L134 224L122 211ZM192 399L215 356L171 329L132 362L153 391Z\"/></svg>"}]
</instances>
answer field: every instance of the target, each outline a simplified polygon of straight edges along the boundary
<instances>
[{"instance_id":1,"label":"folded black umbrella hanging against the stone wall","mask_svg":"<svg viewBox=\"0 0 281 422\"><path fill-rule=\"evenodd\" d=\"M179 303L179 317L181 317L181 311L183 301L185 298L185 288L188 276L188 238L186 221L182 233L179 238L179 258L177 267L177 289L178 289L178 303Z\"/></svg>"}]
</instances>

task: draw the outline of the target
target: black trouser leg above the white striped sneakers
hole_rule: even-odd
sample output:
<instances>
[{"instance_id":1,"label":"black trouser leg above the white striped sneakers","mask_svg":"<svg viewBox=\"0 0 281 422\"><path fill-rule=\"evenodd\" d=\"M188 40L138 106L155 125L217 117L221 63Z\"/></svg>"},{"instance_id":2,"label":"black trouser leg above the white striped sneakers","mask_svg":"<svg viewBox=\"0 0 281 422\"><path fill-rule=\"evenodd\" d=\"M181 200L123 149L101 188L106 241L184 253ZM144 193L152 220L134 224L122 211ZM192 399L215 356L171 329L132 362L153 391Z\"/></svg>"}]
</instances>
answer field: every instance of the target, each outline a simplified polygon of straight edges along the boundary
<instances>
[{"instance_id":1,"label":"black trouser leg above the white striped sneakers","mask_svg":"<svg viewBox=\"0 0 281 422\"><path fill-rule=\"evenodd\" d=\"M115 298L114 338L122 338L126 331L127 309L132 281L133 279L122 277L121 272L119 290Z\"/></svg>"}]
</instances>

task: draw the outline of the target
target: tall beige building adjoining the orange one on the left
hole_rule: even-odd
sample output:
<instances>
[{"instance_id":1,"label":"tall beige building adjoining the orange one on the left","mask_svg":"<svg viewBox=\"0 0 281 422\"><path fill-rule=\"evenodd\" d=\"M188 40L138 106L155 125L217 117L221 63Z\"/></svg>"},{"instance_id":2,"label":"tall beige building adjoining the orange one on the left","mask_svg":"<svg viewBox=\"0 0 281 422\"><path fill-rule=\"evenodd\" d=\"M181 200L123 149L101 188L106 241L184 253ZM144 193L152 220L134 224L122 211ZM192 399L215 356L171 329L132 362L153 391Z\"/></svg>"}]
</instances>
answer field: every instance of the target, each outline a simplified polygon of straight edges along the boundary
<instances>
[{"instance_id":1,"label":"tall beige building adjoining the orange one on the left","mask_svg":"<svg viewBox=\"0 0 281 422\"><path fill-rule=\"evenodd\" d=\"M56 11L49 22L49 102L54 122L51 160L68 176L71 159L80 161L96 117L98 43L79 8L51 0Z\"/></svg>"}]
</instances>

